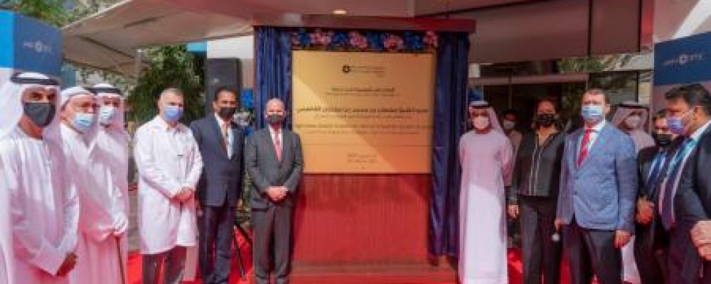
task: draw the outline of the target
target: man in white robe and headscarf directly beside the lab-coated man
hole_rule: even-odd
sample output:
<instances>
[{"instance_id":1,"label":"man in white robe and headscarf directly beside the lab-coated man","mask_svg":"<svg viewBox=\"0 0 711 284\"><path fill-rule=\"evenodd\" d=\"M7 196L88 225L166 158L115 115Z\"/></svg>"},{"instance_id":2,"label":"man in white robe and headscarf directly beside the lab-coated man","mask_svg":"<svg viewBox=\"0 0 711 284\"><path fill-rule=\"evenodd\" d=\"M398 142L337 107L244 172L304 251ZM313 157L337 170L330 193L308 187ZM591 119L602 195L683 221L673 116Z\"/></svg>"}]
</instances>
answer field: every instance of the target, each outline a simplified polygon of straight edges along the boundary
<instances>
[{"instance_id":1,"label":"man in white robe and headscarf directly beside the lab-coated man","mask_svg":"<svg viewBox=\"0 0 711 284\"><path fill-rule=\"evenodd\" d=\"M129 142L130 136L124 128L124 99L121 90L111 84L96 84L90 89L96 94L99 104L97 130L92 143L92 167L102 192L109 202L107 207L117 226L105 241L97 244L97 253L102 261L92 264L95 271L103 275L102 284L125 283L128 259L128 238L126 229L129 222L122 222L129 216ZM120 258L119 258L120 256ZM92 261L93 263L93 261ZM122 282L123 281L123 282Z\"/></svg>"}]
</instances>

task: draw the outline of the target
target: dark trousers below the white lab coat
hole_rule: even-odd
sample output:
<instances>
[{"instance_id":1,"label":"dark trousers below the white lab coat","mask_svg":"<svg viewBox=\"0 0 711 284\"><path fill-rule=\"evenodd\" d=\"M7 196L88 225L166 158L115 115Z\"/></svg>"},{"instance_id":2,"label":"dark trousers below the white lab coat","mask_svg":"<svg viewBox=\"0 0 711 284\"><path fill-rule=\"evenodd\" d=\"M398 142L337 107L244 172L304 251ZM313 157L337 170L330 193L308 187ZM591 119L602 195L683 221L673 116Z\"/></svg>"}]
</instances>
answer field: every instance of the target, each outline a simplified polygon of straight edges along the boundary
<instances>
[{"instance_id":1,"label":"dark trousers below the white lab coat","mask_svg":"<svg viewBox=\"0 0 711 284\"><path fill-rule=\"evenodd\" d=\"M179 284L185 270L186 249L176 246L169 251L143 255L143 284L158 284L161 266L164 266L163 283Z\"/></svg>"}]
</instances>

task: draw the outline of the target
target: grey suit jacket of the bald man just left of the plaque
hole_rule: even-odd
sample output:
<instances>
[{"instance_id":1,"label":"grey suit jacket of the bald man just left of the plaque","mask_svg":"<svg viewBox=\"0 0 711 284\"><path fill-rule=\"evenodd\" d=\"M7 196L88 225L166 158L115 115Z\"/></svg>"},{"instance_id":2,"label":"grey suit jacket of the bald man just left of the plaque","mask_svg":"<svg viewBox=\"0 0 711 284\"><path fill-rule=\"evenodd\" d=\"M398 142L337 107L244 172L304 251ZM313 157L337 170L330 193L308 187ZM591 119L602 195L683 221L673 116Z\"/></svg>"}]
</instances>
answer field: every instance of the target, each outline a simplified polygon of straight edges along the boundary
<instances>
[{"instance_id":1,"label":"grey suit jacket of the bald man just left of the plaque","mask_svg":"<svg viewBox=\"0 0 711 284\"><path fill-rule=\"evenodd\" d=\"M250 206L253 209L267 209L274 205L267 197L270 186L284 186L289 190L282 201L286 206L293 206L296 187L304 172L304 156L301 153L301 138L287 129L282 130L282 160L277 160L274 142L269 128L255 131L247 139L245 147L245 167L253 180L253 192Z\"/></svg>"}]
</instances>

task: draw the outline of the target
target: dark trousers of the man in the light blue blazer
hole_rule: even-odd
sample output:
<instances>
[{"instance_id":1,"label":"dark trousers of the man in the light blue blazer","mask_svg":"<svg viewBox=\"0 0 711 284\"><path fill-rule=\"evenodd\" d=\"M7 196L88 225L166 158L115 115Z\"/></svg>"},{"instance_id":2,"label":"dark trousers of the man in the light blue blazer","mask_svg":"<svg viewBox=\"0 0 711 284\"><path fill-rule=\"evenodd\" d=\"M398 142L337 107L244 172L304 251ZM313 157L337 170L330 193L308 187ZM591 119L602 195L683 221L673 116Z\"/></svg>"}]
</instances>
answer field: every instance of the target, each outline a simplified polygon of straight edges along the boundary
<instances>
[{"instance_id":1,"label":"dark trousers of the man in the light blue blazer","mask_svg":"<svg viewBox=\"0 0 711 284\"><path fill-rule=\"evenodd\" d=\"M621 284L622 251L615 248L614 240L615 231L582 228L574 218L563 226L570 283L589 284L597 275L600 284Z\"/></svg>"}]
</instances>

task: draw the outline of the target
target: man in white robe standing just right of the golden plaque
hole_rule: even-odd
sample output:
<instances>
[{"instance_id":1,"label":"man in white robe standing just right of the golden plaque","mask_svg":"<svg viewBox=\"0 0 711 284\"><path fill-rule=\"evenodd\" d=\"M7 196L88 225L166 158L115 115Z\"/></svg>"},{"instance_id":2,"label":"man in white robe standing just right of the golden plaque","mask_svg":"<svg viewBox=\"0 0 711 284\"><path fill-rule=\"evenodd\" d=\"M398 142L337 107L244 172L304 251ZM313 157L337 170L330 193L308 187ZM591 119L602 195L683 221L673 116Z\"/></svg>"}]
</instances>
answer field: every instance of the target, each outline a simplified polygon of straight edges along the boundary
<instances>
[{"instance_id":1,"label":"man in white robe standing just right of the golden plaque","mask_svg":"<svg viewBox=\"0 0 711 284\"><path fill-rule=\"evenodd\" d=\"M486 102L469 104L474 129L459 140L459 280L508 283L506 191L513 150Z\"/></svg>"}]
</instances>

